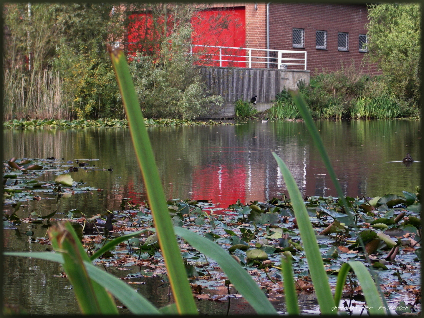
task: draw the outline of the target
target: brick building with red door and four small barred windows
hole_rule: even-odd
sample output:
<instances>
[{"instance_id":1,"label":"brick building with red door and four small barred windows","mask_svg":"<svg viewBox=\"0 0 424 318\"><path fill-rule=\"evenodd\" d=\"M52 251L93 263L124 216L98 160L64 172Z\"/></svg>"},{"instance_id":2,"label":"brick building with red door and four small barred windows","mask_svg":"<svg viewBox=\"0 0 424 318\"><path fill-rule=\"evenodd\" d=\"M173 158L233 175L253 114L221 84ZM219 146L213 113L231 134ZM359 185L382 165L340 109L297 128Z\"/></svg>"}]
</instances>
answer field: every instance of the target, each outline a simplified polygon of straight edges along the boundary
<instances>
[{"instance_id":1,"label":"brick building with red door and four small barred windows","mask_svg":"<svg viewBox=\"0 0 424 318\"><path fill-rule=\"evenodd\" d=\"M219 45L237 43L248 48L306 51L307 69L312 75L340 70L352 61L364 73L379 74L377 66L364 59L368 23L365 4L217 3L209 10L227 12L238 21L237 32L233 32L236 38L221 41ZM273 54L268 53L271 60L276 58ZM287 68L302 69L302 66Z\"/></svg>"}]
</instances>

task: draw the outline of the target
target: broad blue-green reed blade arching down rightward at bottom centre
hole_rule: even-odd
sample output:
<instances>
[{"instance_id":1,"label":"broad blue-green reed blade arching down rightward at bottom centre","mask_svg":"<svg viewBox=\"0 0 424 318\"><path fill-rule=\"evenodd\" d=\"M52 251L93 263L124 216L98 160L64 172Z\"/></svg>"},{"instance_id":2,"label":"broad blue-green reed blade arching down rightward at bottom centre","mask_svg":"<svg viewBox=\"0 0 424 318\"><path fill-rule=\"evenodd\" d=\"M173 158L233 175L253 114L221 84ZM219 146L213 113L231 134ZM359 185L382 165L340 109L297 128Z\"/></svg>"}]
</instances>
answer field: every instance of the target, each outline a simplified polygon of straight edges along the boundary
<instances>
[{"instance_id":1,"label":"broad blue-green reed blade arching down rightward at bottom centre","mask_svg":"<svg viewBox=\"0 0 424 318\"><path fill-rule=\"evenodd\" d=\"M174 230L193 248L218 262L230 282L259 315L277 314L265 293L262 292L252 277L217 243L187 229L174 227Z\"/></svg>"}]
</instances>

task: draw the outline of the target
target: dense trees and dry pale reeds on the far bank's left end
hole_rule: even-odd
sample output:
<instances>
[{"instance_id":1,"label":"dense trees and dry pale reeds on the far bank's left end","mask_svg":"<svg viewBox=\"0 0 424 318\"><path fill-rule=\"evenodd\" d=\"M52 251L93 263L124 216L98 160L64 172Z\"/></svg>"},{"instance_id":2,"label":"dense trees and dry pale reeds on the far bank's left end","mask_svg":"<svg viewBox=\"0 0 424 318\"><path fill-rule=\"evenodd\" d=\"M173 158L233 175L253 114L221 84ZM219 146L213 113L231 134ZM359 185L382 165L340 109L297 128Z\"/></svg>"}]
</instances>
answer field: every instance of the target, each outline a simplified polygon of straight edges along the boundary
<instances>
[{"instance_id":1,"label":"dense trees and dry pale reeds on the far bank's left end","mask_svg":"<svg viewBox=\"0 0 424 318\"><path fill-rule=\"evenodd\" d=\"M119 21L111 10L89 3L4 6L6 119L122 117L104 48Z\"/></svg>"}]
</instances>

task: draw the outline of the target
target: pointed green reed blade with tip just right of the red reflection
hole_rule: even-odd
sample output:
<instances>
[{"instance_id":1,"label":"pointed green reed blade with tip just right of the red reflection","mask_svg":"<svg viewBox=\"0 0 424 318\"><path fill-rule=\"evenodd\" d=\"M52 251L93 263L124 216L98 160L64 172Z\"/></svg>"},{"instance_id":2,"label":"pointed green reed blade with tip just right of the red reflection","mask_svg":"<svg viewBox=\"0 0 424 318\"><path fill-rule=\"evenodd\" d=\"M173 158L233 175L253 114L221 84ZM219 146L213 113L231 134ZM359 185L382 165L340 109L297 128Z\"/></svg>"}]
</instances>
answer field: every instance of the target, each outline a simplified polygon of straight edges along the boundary
<instances>
[{"instance_id":1,"label":"pointed green reed blade with tip just right of the red reflection","mask_svg":"<svg viewBox=\"0 0 424 318\"><path fill-rule=\"evenodd\" d=\"M287 186L287 191L290 195L321 314L326 315L334 313L331 310L331 308L334 307L334 299L324 268L324 261L322 260L322 255L315 238L315 232L312 228L312 223L309 219L302 195L285 163L276 153L273 152L272 154L280 167Z\"/></svg>"}]
</instances>

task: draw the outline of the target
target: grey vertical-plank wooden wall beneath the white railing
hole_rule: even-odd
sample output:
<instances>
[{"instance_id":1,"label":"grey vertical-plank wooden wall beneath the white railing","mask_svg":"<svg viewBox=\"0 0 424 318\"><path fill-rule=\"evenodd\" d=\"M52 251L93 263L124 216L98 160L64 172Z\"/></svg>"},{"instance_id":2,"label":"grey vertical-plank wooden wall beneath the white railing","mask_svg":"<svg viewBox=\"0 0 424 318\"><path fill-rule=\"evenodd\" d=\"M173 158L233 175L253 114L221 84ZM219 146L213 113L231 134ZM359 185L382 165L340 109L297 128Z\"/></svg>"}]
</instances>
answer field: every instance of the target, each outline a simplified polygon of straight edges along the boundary
<instances>
[{"instance_id":1,"label":"grey vertical-plank wooden wall beneath the white railing","mask_svg":"<svg viewBox=\"0 0 424 318\"><path fill-rule=\"evenodd\" d=\"M200 67L200 72L209 91L221 95L224 102L250 101L257 95L258 102L268 103L282 89L282 73L277 69Z\"/></svg>"}]
</instances>

